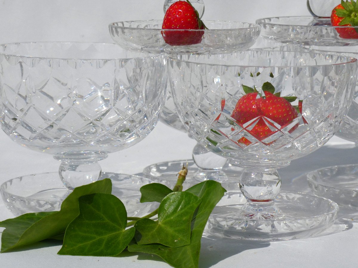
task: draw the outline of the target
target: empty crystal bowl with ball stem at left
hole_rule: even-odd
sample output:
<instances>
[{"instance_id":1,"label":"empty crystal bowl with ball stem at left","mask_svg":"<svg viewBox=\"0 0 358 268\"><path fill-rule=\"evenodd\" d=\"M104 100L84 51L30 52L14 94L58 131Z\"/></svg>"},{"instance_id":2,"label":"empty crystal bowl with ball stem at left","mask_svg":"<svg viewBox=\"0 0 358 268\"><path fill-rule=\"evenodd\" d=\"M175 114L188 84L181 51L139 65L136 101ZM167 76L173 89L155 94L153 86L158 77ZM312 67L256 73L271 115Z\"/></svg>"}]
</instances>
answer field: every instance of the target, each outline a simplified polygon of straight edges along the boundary
<instances>
[{"instance_id":1,"label":"empty crystal bowl with ball stem at left","mask_svg":"<svg viewBox=\"0 0 358 268\"><path fill-rule=\"evenodd\" d=\"M145 138L166 95L163 56L115 44L0 45L0 124L15 142L61 161L71 190L98 180L97 163Z\"/></svg>"}]
</instances>

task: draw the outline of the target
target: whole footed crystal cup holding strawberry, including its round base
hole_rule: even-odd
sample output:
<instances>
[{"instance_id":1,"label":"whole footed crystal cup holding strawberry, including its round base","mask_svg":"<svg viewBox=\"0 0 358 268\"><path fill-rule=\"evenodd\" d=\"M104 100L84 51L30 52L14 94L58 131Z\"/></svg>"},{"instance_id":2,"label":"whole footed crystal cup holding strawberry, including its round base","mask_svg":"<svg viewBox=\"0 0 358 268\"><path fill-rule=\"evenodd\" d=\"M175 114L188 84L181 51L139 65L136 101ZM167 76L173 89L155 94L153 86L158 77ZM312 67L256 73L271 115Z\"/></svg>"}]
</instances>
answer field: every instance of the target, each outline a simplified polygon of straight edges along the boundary
<instances>
[{"instance_id":1,"label":"whole footed crystal cup holding strawberry, including its round base","mask_svg":"<svg viewBox=\"0 0 358 268\"><path fill-rule=\"evenodd\" d=\"M272 241L308 237L333 224L337 214L330 213L327 199L315 200L328 210L308 206L306 195L280 193L277 169L338 131L357 67L348 56L300 51L169 56L174 102L190 135L243 168L237 180L246 203L230 198L233 203L219 204L211 216L220 218L213 234L225 236L234 225L229 237ZM227 207L235 204L234 211Z\"/></svg>"}]
</instances>

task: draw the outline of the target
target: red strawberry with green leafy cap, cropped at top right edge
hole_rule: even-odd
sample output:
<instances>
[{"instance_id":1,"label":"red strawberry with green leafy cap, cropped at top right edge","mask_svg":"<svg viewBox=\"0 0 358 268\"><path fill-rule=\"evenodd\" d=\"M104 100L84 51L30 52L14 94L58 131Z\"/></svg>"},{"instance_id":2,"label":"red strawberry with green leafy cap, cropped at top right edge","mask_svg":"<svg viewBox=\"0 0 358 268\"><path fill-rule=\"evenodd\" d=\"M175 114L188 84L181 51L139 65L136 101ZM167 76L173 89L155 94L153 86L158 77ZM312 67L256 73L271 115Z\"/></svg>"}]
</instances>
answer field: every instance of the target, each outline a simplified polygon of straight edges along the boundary
<instances>
[{"instance_id":1,"label":"red strawberry with green leafy cap, cropped at top right edge","mask_svg":"<svg viewBox=\"0 0 358 268\"><path fill-rule=\"evenodd\" d=\"M332 10L332 26L358 26L358 4L356 1L341 1L341 4ZM341 38L358 39L356 28L336 28Z\"/></svg>"}]
</instances>

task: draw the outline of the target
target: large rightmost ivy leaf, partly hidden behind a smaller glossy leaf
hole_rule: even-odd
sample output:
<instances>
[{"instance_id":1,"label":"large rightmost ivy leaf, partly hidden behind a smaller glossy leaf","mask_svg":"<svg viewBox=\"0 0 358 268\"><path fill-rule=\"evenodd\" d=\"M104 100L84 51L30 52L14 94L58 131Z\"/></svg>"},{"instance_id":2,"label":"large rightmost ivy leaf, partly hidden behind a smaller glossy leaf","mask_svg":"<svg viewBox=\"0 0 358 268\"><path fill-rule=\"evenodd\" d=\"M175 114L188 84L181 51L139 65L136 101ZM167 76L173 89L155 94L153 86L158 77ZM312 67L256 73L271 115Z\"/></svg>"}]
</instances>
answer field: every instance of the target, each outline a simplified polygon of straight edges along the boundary
<instances>
[{"instance_id":1,"label":"large rightmost ivy leaf, partly hidden behind a smaller glossy leaf","mask_svg":"<svg viewBox=\"0 0 358 268\"><path fill-rule=\"evenodd\" d=\"M144 252L156 254L163 258L168 264L178 268L198 267L200 240L209 215L215 205L223 197L226 190L221 184L213 180L194 185L185 192L197 195L202 201L192 219L192 232L190 244L183 247L167 247L160 244L129 245L130 252Z\"/></svg>"}]
</instances>

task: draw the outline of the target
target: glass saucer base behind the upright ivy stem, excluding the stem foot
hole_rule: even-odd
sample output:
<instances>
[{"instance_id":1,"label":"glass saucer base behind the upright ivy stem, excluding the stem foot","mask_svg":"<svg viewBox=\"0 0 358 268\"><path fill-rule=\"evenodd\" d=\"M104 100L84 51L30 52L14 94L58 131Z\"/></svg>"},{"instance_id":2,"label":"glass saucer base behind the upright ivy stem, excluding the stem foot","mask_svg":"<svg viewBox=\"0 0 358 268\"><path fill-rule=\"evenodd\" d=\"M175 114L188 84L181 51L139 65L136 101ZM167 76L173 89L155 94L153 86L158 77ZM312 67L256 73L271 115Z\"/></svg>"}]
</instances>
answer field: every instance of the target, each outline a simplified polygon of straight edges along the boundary
<instances>
[{"instance_id":1,"label":"glass saucer base behind the upright ivy stem, excluding the stem foot","mask_svg":"<svg viewBox=\"0 0 358 268\"><path fill-rule=\"evenodd\" d=\"M159 179L162 183L164 180L166 180L168 181L166 184L170 184L171 187L169 185L167 186L169 188L173 188L177 179L176 175L183 167L183 165L187 164L188 175L183 184L183 189L185 190L192 187L194 184L202 182L194 178L194 175L198 172L199 168L197 165L195 165L194 160L192 159L161 162L149 165L143 169L143 176L151 180ZM242 168L227 163L220 171L223 171L227 176L227 180L221 182L224 188L239 189L238 184L240 175L242 173Z\"/></svg>"}]
</instances>

